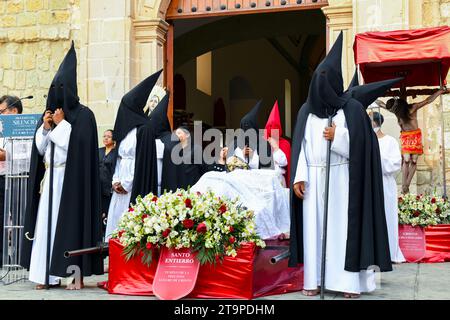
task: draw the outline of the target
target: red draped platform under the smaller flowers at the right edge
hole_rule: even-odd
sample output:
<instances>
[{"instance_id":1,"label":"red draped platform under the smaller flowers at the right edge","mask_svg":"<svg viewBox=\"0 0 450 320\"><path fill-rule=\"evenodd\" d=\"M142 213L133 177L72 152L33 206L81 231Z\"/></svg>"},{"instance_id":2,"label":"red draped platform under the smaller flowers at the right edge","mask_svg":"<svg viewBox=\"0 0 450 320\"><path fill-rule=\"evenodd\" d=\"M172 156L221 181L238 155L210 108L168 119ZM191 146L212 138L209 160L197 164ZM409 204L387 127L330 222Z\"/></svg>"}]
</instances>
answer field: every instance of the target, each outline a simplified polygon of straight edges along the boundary
<instances>
[{"instance_id":1,"label":"red draped platform under the smaller flowers at the right edge","mask_svg":"<svg viewBox=\"0 0 450 320\"><path fill-rule=\"evenodd\" d=\"M425 228L427 253L421 262L450 261L450 224Z\"/></svg>"}]
</instances>

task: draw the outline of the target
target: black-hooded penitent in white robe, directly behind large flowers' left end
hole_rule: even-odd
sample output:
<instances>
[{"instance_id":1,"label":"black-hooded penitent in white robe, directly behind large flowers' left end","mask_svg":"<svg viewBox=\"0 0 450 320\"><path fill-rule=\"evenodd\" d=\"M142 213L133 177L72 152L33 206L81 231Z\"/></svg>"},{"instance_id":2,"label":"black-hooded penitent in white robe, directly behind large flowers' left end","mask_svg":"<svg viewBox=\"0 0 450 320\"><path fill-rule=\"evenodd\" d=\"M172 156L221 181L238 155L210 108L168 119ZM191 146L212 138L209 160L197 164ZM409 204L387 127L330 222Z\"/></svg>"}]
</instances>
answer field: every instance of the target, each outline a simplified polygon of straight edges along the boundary
<instances>
[{"instance_id":1,"label":"black-hooded penitent in white robe, directly behind large flowers' left end","mask_svg":"<svg viewBox=\"0 0 450 320\"><path fill-rule=\"evenodd\" d=\"M158 192L155 138L144 108L161 72L143 80L120 102L114 124L118 156L106 225L107 238L117 228L130 203L134 203L138 196Z\"/></svg>"}]
</instances>

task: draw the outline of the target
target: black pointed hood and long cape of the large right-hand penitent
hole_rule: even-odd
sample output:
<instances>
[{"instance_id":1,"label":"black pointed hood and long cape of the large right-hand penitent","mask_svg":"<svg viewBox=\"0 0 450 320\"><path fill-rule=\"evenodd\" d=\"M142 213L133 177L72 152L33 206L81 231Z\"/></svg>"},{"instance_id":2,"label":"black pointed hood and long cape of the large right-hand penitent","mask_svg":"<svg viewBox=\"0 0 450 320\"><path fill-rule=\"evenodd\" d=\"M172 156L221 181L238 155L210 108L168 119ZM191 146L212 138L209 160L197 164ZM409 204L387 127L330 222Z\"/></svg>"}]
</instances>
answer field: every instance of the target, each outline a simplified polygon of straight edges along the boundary
<instances>
[{"instance_id":1,"label":"black pointed hood and long cape of the large right-hand penitent","mask_svg":"<svg viewBox=\"0 0 450 320\"><path fill-rule=\"evenodd\" d=\"M391 271L383 180L378 139L360 100L357 88L343 92L341 74L342 34L324 61L314 72L308 100L300 109L294 129L292 163L297 164L310 113L328 118L342 109L350 138L349 207L346 257L344 269L367 270L377 265L380 271ZM378 95L397 80L373 87ZM373 95L373 92L372 92ZM378 97L375 97L372 101ZM361 99L363 100L363 99ZM365 99L364 103L367 103ZM289 265L303 262L303 202L292 190L296 165L291 167L291 232ZM330 226L331 227L331 226Z\"/></svg>"}]
</instances>

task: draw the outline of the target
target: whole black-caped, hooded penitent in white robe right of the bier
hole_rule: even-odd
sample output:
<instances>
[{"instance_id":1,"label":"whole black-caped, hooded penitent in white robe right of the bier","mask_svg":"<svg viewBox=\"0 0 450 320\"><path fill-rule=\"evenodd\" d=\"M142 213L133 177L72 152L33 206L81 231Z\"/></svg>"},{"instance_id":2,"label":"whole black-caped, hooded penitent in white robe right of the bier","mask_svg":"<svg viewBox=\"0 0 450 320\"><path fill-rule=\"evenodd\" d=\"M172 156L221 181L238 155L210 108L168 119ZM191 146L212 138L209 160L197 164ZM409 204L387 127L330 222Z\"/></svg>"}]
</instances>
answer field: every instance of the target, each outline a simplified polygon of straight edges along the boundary
<instances>
[{"instance_id":1,"label":"whole black-caped, hooded penitent in white robe right of the bier","mask_svg":"<svg viewBox=\"0 0 450 320\"><path fill-rule=\"evenodd\" d=\"M366 270L392 270L378 139L365 110L366 94L375 100L387 87L374 86L366 94L364 86L354 87L344 93L341 54L342 33L313 74L293 135L289 265L304 263L308 295L316 294L320 283L324 136L332 141L326 289L347 295L372 291L373 272ZM332 128L326 128L328 115L333 116Z\"/></svg>"}]
</instances>

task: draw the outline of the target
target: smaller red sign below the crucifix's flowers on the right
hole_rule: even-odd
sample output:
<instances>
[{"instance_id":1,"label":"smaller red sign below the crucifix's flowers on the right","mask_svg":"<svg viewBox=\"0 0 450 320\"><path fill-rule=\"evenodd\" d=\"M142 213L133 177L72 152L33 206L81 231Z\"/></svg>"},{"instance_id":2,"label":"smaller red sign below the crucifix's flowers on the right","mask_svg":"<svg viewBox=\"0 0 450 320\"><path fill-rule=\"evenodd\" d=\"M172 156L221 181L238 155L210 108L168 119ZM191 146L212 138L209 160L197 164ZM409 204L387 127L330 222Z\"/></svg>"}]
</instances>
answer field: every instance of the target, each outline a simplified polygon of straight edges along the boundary
<instances>
[{"instance_id":1,"label":"smaller red sign below the crucifix's flowers on the right","mask_svg":"<svg viewBox=\"0 0 450 320\"><path fill-rule=\"evenodd\" d=\"M418 262L425 257L425 231L421 227L399 225L400 249L408 262Z\"/></svg>"}]
</instances>

